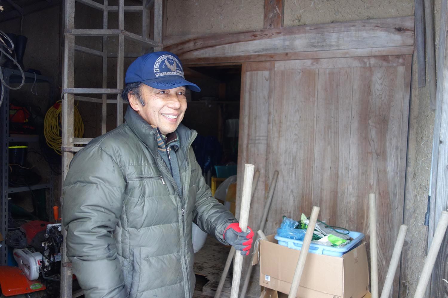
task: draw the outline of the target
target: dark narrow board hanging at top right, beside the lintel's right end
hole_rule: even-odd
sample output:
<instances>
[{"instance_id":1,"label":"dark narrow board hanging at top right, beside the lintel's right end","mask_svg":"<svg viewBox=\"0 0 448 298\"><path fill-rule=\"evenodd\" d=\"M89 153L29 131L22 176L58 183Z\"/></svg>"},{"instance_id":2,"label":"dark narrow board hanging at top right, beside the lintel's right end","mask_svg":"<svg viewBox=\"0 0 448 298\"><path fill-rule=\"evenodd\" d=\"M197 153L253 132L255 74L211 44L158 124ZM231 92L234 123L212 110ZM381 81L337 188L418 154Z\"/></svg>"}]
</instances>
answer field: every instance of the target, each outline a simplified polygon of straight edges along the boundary
<instances>
[{"instance_id":1,"label":"dark narrow board hanging at top right, beside the lintel's right end","mask_svg":"<svg viewBox=\"0 0 448 298\"><path fill-rule=\"evenodd\" d=\"M415 0L415 48L417 50L418 87L425 87L425 24L423 0Z\"/></svg>"}]
</instances>

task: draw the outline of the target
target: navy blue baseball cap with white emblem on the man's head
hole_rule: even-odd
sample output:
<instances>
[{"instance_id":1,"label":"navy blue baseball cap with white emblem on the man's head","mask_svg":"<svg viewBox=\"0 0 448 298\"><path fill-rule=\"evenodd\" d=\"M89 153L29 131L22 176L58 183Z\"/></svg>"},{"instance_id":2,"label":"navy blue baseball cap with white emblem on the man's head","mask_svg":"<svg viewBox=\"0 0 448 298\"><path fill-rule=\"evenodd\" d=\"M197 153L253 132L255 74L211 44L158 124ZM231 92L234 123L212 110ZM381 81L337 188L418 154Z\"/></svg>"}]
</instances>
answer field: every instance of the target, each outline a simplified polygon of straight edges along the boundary
<instances>
[{"instance_id":1,"label":"navy blue baseball cap with white emblem on the man's head","mask_svg":"<svg viewBox=\"0 0 448 298\"><path fill-rule=\"evenodd\" d=\"M201 88L184 77L179 57L170 52L154 52L138 57L126 71L125 83L142 82L152 88L172 89L185 86L200 92Z\"/></svg>"}]
</instances>

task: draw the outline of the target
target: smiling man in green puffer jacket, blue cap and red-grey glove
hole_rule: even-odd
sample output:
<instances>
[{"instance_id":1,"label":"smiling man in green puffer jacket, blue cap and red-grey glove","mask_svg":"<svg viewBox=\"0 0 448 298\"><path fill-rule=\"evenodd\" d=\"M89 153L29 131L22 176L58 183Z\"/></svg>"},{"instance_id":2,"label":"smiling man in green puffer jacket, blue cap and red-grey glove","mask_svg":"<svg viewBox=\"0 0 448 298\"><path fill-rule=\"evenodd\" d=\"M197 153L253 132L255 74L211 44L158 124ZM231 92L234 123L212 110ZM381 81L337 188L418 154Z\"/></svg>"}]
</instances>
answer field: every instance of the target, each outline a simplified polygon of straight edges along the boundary
<instances>
[{"instance_id":1,"label":"smiling man in green puffer jacket, blue cap and red-grey glove","mask_svg":"<svg viewBox=\"0 0 448 298\"><path fill-rule=\"evenodd\" d=\"M87 298L192 297L192 222L246 255L253 232L211 196L194 157L197 133L181 63L136 59L125 77L125 123L79 151L64 183L67 255Z\"/></svg>"}]
</instances>

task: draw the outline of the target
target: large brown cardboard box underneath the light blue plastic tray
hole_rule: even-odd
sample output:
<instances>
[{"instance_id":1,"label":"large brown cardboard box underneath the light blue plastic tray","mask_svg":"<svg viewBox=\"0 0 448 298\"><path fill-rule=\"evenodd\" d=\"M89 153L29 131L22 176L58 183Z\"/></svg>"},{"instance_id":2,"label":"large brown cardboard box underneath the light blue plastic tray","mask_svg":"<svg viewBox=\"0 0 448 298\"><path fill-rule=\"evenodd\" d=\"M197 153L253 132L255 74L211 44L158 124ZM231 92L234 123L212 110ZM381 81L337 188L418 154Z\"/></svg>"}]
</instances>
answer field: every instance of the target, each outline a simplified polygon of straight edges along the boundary
<instances>
[{"instance_id":1,"label":"large brown cardboard box underneath the light blue plastic tray","mask_svg":"<svg viewBox=\"0 0 448 298\"><path fill-rule=\"evenodd\" d=\"M260 241L260 285L289 293L300 251L277 244L274 235L267 238ZM366 243L362 243L341 257L308 253L296 297L362 298L368 291Z\"/></svg>"}]
</instances>

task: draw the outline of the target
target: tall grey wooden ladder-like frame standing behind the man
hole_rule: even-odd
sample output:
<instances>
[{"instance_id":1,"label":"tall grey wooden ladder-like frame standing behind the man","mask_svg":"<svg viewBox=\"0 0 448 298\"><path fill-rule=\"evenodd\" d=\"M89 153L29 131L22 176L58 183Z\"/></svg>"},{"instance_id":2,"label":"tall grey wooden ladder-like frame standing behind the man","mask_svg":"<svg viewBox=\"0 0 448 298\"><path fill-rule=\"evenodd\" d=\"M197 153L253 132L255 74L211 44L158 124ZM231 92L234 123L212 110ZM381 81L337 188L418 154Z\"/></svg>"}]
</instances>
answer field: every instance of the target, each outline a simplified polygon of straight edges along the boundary
<instances>
[{"instance_id":1,"label":"tall grey wooden ladder-like frame standing behind the man","mask_svg":"<svg viewBox=\"0 0 448 298\"><path fill-rule=\"evenodd\" d=\"M73 110L74 101L89 101L102 104L102 124L101 134L106 133L107 104L116 103L116 126L123 123L123 99L121 92L124 87L124 58L125 58L125 38L137 41L142 44L142 53L126 55L126 57L138 57L146 51L162 49L162 0L145 0L142 5L125 6L124 0L119 0L118 6L108 5L108 0L103 0L103 4L93 0L76 0L82 4L103 11L103 29L75 29L75 0L64 1L64 65L63 65L63 89L62 99L62 181L69 170L70 161L75 152L82 147L75 144L87 144L91 138L75 138L73 135ZM154 7L154 40L150 39L150 9ZM142 36L125 30L125 11L142 12ZM108 12L118 12L118 29L108 29ZM84 46L75 45L76 36L99 36L103 37L103 50L94 50ZM116 56L108 55L107 43L108 37L118 36L118 50ZM103 58L103 85L102 88L74 88L74 54L75 50L90 55ZM107 65L108 57L117 59L117 86L116 88L107 88ZM102 94L102 98L89 97L89 94ZM115 99L107 99L108 94L116 94ZM62 183L63 184L63 183ZM61 185L62 187L62 185ZM61 205L64 204L64 196L60 199ZM64 216L64 214L62 214ZM72 264L67 258L65 249L65 237L67 235L64 227L62 228L64 243L61 261L61 286L60 297L72 298L78 297L82 293L73 294L72 284Z\"/></svg>"}]
</instances>

